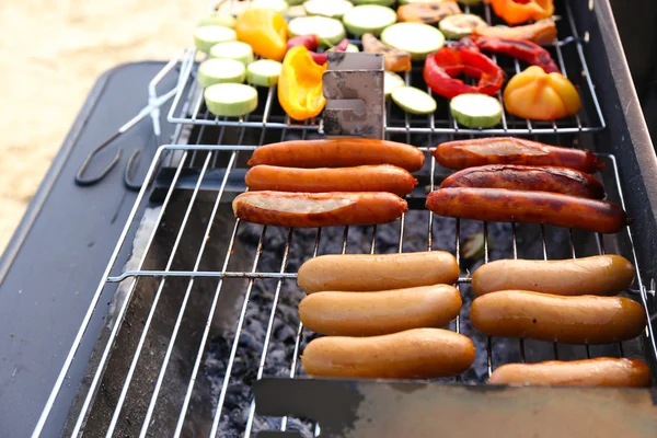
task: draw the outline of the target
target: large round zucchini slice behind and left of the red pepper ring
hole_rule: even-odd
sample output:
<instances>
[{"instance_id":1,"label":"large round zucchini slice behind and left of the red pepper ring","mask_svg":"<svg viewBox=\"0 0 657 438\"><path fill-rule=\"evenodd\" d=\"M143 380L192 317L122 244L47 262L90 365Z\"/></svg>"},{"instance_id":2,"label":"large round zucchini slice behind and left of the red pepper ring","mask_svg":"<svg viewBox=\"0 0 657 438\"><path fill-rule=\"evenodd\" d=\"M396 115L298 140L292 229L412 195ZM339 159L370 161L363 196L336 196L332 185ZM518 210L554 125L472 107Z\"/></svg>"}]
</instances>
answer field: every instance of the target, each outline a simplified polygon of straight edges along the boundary
<instances>
[{"instance_id":1,"label":"large round zucchini slice behind and left of the red pepper ring","mask_svg":"<svg viewBox=\"0 0 657 438\"><path fill-rule=\"evenodd\" d=\"M381 41L391 47L406 50L415 60L422 60L445 44L445 35L423 23L395 23L381 33Z\"/></svg>"}]
</instances>

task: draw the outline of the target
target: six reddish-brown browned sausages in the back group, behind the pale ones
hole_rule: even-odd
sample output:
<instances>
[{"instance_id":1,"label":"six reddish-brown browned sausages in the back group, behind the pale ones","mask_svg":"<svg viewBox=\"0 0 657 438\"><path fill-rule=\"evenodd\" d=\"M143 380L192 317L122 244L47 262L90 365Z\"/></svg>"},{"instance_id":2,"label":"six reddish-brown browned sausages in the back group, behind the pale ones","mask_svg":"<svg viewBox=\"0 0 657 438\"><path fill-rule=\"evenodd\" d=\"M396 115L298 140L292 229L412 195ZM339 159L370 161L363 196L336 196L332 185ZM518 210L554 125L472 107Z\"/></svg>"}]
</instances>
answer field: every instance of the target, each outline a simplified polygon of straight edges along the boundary
<instances>
[{"instance_id":1,"label":"six reddish-brown browned sausages in the back group, behind the pale ones","mask_svg":"<svg viewBox=\"0 0 657 438\"><path fill-rule=\"evenodd\" d=\"M604 189L589 173L603 163L589 151L496 137L450 141L431 150L459 170L428 195L440 216L620 231L625 211L600 200ZM238 218L261 224L315 228L377 224L407 210L401 196L424 165L417 148L384 140L339 138L285 141L255 150L250 192L233 201Z\"/></svg>"}]
</instances>

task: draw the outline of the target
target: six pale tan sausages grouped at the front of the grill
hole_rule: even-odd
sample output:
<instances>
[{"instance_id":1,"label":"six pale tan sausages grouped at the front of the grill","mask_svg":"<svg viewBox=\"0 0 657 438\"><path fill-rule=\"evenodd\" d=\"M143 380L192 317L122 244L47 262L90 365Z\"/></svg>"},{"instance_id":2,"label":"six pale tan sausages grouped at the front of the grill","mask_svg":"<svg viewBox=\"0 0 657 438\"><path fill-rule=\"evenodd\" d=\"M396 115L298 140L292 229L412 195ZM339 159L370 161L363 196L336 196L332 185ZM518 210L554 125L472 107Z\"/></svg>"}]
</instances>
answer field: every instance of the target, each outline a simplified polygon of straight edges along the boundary
<instances>
[{"instance_id":1,"label":"six pale tan sausages grouped at the front of the grill","mask_svg":"<svg viewBox=\"0 0 657 438\"><path fill-rule=\"evenodd\" d=\"M555 275L558 273L558 275ZM437 378L459 374L474 361L471 339L437 328L461 311L453 255L424 252L324 255L299 269L308 293L301 322L326 335L311 341L301 360L315 377ZM474 328L489 336L567 344L608 344L636 337L646 315L635 301L613 297L634 280L619 255L566 261L497 261L477 268L471 307ZM537 291L522 290L531 286ZM552 292L552 293L548 293ZM646 385L638 359L512 364L491 383Z\"/></svg>"}]
</instances>

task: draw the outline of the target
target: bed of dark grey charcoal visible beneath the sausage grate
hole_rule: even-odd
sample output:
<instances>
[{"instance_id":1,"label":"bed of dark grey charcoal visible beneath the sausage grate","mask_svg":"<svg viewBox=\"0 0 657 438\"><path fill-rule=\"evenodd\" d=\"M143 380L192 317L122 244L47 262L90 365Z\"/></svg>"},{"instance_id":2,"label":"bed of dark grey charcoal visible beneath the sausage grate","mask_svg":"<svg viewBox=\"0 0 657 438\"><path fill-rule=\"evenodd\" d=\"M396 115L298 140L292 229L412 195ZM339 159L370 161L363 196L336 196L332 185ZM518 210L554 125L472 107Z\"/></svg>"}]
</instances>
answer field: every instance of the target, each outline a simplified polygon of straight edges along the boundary
<instances>
[{"instance_id":1,"label":"bed of dark grey charcoal visible beneath the sausage grate","mask_svg":"<svg viewBox=\"0 0 657 438\"><path fill-rule=\"evenodd\" d=\"M422 210L412 210L405 216L404 224L404 252L426 251L428 247L428 218L429 214ZM255 256L262 227L250 223L243 223L240 228L239 244L245 245L247 252ZM539 258L543 255L542 239L537 226L517 227L517 254L520 257ZM483 224L479 221L460 221L460 243L477 232L483 231ZM316 246L318 230L293 230L290 240L288 229L269 227L262 242L262 253L257 265L257 272L280 272L285 256L287 242L290 242L287 253L287 265L285 272L296 273L301 264L312 257L316 250L318 255L338 254L343 251L344 227L325 228L321 231L321 240ZM488 223L488 260L512 257L511 227L508 223ZM457 242L457 220L434 216L433 222L433 250L443 250L456 254ZM561 249L568 245L568 233L564 230L550 230L546 235L550 242L551 257L566 257ZM393 253L399 251L400 244L400 223L382 224L377 227L374 240L376 253ZM350 227L348 231L347 253L370 253L372 249L372 227ZM561 251L554 253L554 251ZM462 275L469 275L477 266L484 263L480 260L469 260L465 269L462 266ZM240 267L240 269L250 269L252 266ZM275 319L270 327L270 336L266 349L266 360L264 362L264 376L289 377L290 366L293 359L295 342L299 327L299 315L297 307L304 297L304 292L291 279L257 279L253 281L249 304L245 313L245 321L242 333L239 337L238 351L231 372L231 380L227 390L227 397L222 407L220 436L239 436L246 424L252 402L251 385L256 380L257 369L263 355L263 346L267 333L267 325L273 307L276 290L279 288L278 304L275 309ZM487 338L474 331L469 321L470 304L472 302L472 292L468 285L461 286L463 296L463 308L460 318L460 331L469 336L476 347L476 359L474 365L461 376L461 381L465 383L483 382L487 378ZM450 328L454 328L452 323ZM207 350L205 362L205 372L212 382L212 393L218 394L221 391L222 379L226 372L227 360L230 354L229 341L232 343L234 333L224 333L223 337L212 339ZM303 330L299 343L299 354L303 351L306 345L316 334ZM493 366L507 361L519 360L519 349L517 341L498 339L492 342ZM295 370L297 377L306 376L300 360ZM439 381L449 381L451 379L439 379ZM280 419L269 419L255 417L253 420L253 433L263 429L280 428ZM311 425L298 419L288 419L288 429L300 429L303 436L312 436Z\"/></svg>"}]
</instances>

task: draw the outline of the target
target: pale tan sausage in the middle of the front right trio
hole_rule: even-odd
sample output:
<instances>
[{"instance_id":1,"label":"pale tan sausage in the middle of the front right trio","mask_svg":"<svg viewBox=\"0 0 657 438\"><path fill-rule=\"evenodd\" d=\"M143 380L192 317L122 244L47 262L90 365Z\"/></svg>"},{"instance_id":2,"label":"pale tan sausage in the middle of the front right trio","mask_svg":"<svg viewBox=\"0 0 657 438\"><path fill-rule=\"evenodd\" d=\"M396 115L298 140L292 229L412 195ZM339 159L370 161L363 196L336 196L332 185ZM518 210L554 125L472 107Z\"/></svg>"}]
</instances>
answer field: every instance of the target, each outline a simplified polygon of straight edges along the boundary
<instances>
[{"instance_id":1,"label":"pale tan sausage in the middle of the front right trio","mask_svg":"<svg viewBox=\"0 0 657 438\"><path fill-rule=\"evenodd\" d=\"M475 298L470 321L488 336L610 344L636 337L646 326L646 314L629 298L503 290Z\"/></svg>"}]
</instances>

